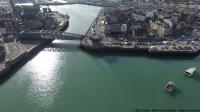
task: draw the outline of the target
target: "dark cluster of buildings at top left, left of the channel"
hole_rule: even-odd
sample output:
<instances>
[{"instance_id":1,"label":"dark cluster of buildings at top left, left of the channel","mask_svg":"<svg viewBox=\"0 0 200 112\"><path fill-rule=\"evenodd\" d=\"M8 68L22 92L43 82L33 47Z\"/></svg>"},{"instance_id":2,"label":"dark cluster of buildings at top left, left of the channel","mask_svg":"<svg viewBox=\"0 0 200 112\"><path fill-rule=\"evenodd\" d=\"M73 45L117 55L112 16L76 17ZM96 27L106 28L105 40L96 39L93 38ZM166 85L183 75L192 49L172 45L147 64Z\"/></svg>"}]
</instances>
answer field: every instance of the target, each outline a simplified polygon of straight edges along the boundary
<instances>
[{"instance_id":1,"label":"dark cluster of buildings at top left, left of the channel","mask_svg":"<svg viewBox=\"0 0 200 112\"><path fill-rule=\"evenodd\" d=\"M40 28L49 29L55 21L52 12L42 12L35 3L18 4L20 0L14 1L12 15L0 17L0 37L4 35L17 34L23 30L36 30ZM1 14L1 12L0 12Z\"/></svg>"}]
</instances>

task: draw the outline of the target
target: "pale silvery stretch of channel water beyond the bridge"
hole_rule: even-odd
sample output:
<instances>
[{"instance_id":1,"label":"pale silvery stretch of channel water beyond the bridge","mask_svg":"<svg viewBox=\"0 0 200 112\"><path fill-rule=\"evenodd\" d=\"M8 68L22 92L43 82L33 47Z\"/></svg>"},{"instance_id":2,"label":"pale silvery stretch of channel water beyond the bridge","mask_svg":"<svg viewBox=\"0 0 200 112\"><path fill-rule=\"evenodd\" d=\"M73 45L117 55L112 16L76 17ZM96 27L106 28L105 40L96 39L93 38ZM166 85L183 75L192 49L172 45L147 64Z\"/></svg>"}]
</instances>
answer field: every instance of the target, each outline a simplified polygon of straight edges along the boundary
<instances>
[{"instance_id":1,"label":"pale silvery stretch of channel water beyond the bridge","mask_svg":"<svg viewBox=\"0 0 200 112\"><path fill-rule=\"evenodd\" d=\"M97 13L100 11L100 7L87 6L87 5L61 5L50 6L53 11L59 11L63 14L68 14L69 28L67 32L85 34L91 25ZM92 9L92 10L91 10Z\"/></svg>"}]
</instances>

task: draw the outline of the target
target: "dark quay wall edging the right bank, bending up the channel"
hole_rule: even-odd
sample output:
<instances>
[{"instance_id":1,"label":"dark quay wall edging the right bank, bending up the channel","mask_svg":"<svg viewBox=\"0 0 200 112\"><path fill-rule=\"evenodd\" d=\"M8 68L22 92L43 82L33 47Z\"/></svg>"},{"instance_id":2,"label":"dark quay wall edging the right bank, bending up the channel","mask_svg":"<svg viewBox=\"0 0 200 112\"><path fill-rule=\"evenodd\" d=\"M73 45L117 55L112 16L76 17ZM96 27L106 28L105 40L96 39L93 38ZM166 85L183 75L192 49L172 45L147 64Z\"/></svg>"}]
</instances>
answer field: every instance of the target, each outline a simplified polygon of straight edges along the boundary
<instances>
[{"instance_id":1,"label":"dark quay wall edging the right bank, bending up the channel","mask_svg":"<svg viewBox=\"0 0 200 112\"><path fill-rule=\"evenodd\" d=\"M200 48L198 49L194 49L194 50L176 50L176 49L172 49L172 50L168 50L168 51L165 51L165 50L157 50L157 51L151 51L149 50L150 48L150 45L149 46L140 46L138 45L138 47L130 47L130 48L126 48L126 46L121 46L121 45L117 45L115 46L114 44L113 45L100 45L101 43L98 43L97 41L100 41L100 40L94 40L92 39L90 36L92 35L89 35L90 33L90 30L93 26L96 25L99 17L101 16L101 14L103 13L104 11L104 8L99 11L99 14L97 15L97 17L94 19L94 21L92 22L91 26L89 27L89 29L87 30L86 34L85 34L85 38L83 38L81 40L81 43L80 43L80 47L83 49L83 50L88 50L88 51L117 51L117 52L139 52L139 53L146 53L146 54L150 54L150 55L179 55L179 56L187 56L187 55L198 55L200 54ZM87 42L87 40L90 40L91 42ZM93 42L92 42L93 41ZM128 47L128 46L127 46Z\"/></svg>"}]
</instances>

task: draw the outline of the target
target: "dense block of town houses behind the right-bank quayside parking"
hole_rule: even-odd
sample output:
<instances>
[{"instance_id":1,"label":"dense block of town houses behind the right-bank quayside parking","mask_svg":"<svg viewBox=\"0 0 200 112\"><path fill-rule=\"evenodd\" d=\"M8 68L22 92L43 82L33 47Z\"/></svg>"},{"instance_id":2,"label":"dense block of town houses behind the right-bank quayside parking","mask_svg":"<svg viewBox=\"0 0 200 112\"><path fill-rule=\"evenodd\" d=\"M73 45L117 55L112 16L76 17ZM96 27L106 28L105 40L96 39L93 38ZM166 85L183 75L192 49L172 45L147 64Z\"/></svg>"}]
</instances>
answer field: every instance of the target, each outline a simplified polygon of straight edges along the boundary
<instances>
[{"instance_id":1,"label":"dense block of town houses behind the right-bank quayside parking","mask_svg":"<svg viewBox=\"0 0 200 112\"><path fill-rule=\"evenodd\" d=\"M137 0L133 0L137 1ZM152 6L153 8L153 6ZM175 31L191 27L197 14L174 11L170 8L122 7L107 9L102 22L102 32L131 33L133 37L151 35L156 37L172 36Z\"/></svg>"}]
</instances>

